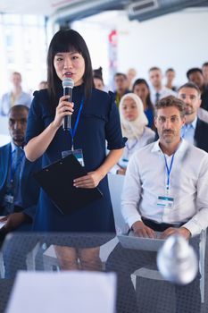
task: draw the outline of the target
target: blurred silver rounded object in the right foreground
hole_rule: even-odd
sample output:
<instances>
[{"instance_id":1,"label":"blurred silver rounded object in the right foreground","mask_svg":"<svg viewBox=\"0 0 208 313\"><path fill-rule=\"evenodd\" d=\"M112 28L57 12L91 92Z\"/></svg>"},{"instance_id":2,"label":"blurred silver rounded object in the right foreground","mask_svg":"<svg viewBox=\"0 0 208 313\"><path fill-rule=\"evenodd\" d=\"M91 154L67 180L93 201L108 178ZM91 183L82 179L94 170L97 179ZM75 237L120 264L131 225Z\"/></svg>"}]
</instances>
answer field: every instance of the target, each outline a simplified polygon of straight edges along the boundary
<instances>
[{"instance_id":1,"label":"blurred silver rounded object in the right foreground","mask_svg":"<svg viewBox=\"0 0 208 313\"><path fill-rule=\"evenodd\" d=\"M171 235L157 254L157 266L171 283L191 283L198 271L195 250L182 236Z\"/></svg>"}]
</instances>

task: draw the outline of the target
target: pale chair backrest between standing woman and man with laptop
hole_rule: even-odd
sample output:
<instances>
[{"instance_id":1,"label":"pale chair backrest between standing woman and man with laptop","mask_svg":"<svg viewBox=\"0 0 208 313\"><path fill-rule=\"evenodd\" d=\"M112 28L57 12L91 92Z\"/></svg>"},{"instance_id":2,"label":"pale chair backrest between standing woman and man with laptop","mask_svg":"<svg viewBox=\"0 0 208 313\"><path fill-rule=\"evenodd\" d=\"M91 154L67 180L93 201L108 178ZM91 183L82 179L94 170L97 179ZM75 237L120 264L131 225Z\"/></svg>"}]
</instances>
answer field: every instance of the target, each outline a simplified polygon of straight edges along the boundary
<instances>
[{"instance_id":1,"label":"pale chair backrest between standing woman and man with laptop","mask_svg":"<svg viewBox=\"0 0 208 313\"><path fill-rule=\"evenodd\" d=\"M121 214L121 193L124 182L123 175L108 174L109 190L112 199L112 211L115 221L116 233L127 233L129 230L128 224L125 223Z\"/></svg>"}]
</instances>

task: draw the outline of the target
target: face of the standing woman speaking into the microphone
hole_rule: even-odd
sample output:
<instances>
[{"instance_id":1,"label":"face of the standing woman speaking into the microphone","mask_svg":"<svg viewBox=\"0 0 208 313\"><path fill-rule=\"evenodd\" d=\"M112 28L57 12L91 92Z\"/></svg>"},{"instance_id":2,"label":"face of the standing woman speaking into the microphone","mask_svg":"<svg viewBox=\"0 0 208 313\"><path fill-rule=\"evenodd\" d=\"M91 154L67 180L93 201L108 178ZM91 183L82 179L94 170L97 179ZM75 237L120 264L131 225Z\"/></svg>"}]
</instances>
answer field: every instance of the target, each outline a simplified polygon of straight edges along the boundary
<instances>
[{"instance_id":1,"label":"face of the standing woman speaking into the microphone","mask_svg":"<svg viewBox=\"0 0 208 313\"><path fill-rule=\"evenodd\" d=\"M71 78L74 86L83 82L85 60L78 52L60 52L54 56L54 69L60 80Z\"/></svg>"}]
</instances>

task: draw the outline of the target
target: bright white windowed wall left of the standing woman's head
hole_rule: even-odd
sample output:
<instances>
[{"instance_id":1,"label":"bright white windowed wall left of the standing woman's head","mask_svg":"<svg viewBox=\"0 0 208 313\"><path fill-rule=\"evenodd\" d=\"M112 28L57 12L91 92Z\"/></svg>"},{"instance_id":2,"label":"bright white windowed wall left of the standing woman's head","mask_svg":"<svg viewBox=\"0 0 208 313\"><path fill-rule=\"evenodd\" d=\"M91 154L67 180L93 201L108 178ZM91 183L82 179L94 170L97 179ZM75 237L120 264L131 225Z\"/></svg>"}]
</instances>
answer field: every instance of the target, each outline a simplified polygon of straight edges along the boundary
<instances>
[{"instance_id":1,"label":"bright white windowed wall left of the standing woman's head","mask_svg":"<svg viewBox=\"0 0 208 313\"><path fill-rule=\"evenodd\" d=\"M22 89L34 91L46 80L44 16L0 13L0 97L12 88L11 73L21 72Z\"/></svg>"}]
</instances>

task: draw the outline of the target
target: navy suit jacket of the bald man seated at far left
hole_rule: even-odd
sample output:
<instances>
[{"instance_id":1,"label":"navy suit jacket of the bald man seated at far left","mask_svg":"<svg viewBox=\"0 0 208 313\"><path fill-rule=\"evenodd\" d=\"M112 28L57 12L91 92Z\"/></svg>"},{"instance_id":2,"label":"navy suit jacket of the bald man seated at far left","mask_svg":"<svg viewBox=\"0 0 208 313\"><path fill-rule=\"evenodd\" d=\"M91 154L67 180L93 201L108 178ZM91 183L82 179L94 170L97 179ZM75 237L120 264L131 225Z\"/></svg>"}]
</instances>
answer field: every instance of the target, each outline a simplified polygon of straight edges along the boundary
<instances>
[{"instance_id":1,"label":"navy suit jacket of the bald man seated at far left","mask_svg":"<svg viewBox=\"0 0 208 313\"><path fill-rule=\"evenodd\" d=\"M9 143L0 148L0 203L4 199L6 178L10 166L11 144ZM36 162L29 162L29 160L25 158L25 163L21 173L22 212L30 216L32 219L36 213L37 200L39 197L39 186L33 178L33 173L40 169L41 158L38 158Z\"/></svg>"}]
</instances>

